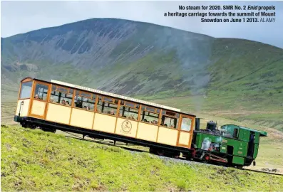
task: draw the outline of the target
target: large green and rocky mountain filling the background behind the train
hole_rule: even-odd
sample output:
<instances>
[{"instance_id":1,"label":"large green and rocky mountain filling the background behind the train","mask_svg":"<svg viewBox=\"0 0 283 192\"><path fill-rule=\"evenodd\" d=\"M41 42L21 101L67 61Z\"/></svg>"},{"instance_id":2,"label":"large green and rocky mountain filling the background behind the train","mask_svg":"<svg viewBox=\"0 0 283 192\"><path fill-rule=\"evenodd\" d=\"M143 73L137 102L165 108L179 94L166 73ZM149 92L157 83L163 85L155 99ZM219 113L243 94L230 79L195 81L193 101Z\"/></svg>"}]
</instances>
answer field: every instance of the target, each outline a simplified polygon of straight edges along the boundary
<instances>
[{"instance_id":1,"label":"large green and rocky mountain filling the background behind the train","mask_svg":"<svg viewBox=\"0 0 283 192\"><path fill-rule=\"evenodd\" d=\"M265 118L283 129L282 74L281 48L123 19L93 18L1 38L4 100L16 98L19 80L31 76L150 100L187 97L170 105L249 111L226 116ZM268 114L254 117L258 111Z\"/></svg>"}]
</instances>

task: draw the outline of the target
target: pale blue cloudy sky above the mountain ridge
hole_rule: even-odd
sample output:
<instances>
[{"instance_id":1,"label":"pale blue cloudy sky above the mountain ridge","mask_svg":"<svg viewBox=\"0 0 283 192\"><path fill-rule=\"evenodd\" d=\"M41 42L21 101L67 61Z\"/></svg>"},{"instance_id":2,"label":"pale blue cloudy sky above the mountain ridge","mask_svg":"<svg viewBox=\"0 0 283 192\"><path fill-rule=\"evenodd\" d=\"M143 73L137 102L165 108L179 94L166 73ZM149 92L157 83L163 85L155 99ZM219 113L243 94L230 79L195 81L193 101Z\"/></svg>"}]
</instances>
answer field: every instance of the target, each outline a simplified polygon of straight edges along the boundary
<instances>
[{"instance_id":1,"label":"pale blue cloudy sky above the mountain ridge","mask_svg":"<svg viewBox=\"0 0 283 192\"><path fill-rule=\"evenodd\" d=\"M168 11L180 11L180 5L275 6L276 16L272 23L203 23L200 17L164 16ZM1 1L1 37L88 18L144 21L216 38L244 38L283 48L283 1Z\"/></svg>"}]
</instances>

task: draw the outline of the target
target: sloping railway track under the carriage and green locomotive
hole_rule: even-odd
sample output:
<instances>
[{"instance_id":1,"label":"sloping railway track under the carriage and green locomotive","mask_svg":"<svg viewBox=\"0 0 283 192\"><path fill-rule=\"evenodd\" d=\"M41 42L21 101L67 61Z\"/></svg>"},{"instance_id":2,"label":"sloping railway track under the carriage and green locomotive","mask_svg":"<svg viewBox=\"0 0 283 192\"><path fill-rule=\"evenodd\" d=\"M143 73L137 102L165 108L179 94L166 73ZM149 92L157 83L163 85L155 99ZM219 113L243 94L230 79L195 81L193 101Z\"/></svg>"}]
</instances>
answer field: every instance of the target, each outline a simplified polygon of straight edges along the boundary
<instances>
[{"instance_id":1,"label":"sloping railway track under the carriage and green locomotive","mask_svg":"<svg viewBox=\"0 0 283 192\"><path fill-rule=\"evenodd\" d=\"M62 131L63 132L63 131ZM83 139L82 137L78 137L78 135L76 134L71 134L69 132L66 132L67 134L70 134L72 135L73 137L71 136L68 136L68 135L65 135L65 137L71 137L73 139L80 139L80 140L83 140L83 141L88 141L88 142L95 142L95 143L99 143L99 144L107 144L109 146L118 146L122 149L126 149L128 151L134 151L134 152L147 152L147 153L150 153L149 151L146 151L146 150L142 150L142 149L133 149L133 148L130 148L129 146L137 146L135 144L123 144L123 143L120 143L120 142L117 142L114 144L114 142L111 142L111 141L106 141L106 140L101 140L101 139ZM156 155L158 156L158 155ZM183 157L179 157L179 158L173 158L173 157L167 157L167 156L160 156L162 159L166 158L166 159L171 159L172 161L184 161L184 162L187 162L189 161L190 164L193 163L193 164L205 164L205 163L202 163L202 162L197 162L197 161L191 161L191 160L188 160L188 159L185 159ZM217 166L217 167L223 167L223 166L219 166L219 165L215 165L215 164L209 164L210 166ZM232 167L233 169L237 169L237 168L234 168ZM257 173L263 173L263 174L272 174L272 175L277 175L277 176L283 176L283 174L279 174L279 173L274 173L274 172L268 172L268 171L259 171L259 170L254 170L254 169L237 169L237 170L240 170L240 171L251 171L251 172L257 172Z\"/></svg>"}]
</instances>

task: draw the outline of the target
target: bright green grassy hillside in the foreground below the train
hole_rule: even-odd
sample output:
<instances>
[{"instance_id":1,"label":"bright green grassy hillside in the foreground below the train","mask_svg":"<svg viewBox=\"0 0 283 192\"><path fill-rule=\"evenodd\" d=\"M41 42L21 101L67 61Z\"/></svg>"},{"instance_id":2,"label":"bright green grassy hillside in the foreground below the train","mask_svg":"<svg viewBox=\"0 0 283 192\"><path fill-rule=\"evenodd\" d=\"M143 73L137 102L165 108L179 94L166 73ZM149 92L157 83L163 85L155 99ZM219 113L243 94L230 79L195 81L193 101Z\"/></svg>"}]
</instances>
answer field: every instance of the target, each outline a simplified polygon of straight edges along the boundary
<instances>
[{"instance_id":1,"label":"bright green grassy hillside in the foreground below the train","mask_svg":"<svg viewBox=\"0 0 283 192\"><path fill-rule=\"evenodd\" d=\"M280 191L282 176L1 127L1 191Z\"/></svg>"}]
</instances>

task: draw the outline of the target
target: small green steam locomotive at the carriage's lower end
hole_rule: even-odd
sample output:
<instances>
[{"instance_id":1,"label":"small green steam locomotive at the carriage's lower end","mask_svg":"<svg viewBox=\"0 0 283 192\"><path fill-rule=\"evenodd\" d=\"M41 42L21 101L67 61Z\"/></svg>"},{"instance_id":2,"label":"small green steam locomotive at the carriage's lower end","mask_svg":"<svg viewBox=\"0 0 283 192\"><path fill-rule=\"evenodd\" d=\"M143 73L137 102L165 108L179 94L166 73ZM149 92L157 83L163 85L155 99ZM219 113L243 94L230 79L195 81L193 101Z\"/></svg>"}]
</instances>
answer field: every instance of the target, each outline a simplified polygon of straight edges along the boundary
<instances>
[{"instance_id":1,"label":"small green steam locomotive at the carriage's lower end","mask_svg":"<svg viewBox=\"0 0 283 192\"><path fill-rule=\"evenodd\" d=\"M196 118L195 122L191 150L183 154L187 159L242 168L256 159L259 137L267 137L267 132L235 124L226 124L217 129L217 124L210 121L206 129L200 129L200 119Z\"/></svg>"}]
</instances>

